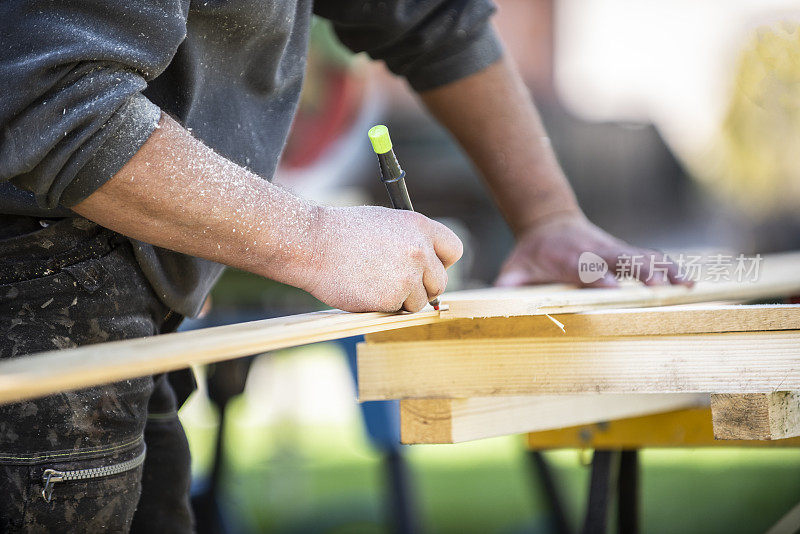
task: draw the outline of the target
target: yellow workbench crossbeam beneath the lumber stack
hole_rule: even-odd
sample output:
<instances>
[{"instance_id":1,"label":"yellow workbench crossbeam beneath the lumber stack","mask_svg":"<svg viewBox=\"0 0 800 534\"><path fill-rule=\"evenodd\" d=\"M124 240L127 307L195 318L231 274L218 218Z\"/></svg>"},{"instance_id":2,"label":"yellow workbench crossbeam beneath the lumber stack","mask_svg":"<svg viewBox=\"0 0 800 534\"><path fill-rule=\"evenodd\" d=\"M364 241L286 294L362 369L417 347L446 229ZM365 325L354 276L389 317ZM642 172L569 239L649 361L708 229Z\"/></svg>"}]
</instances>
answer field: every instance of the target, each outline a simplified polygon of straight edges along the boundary
<instances>
[{"instance_id":1,"label":"yellow workbench crossbeam beneath the lumber stack","mask_svg":"<svg viewBox=\"0 0 800 534\"><path fill-rule=\"evenodd\" d=\"M532 449L641 449L646 447L800 447L800 438L771 441L716 440L710 408L534 432Z\"/></svg>"}]
</instances>

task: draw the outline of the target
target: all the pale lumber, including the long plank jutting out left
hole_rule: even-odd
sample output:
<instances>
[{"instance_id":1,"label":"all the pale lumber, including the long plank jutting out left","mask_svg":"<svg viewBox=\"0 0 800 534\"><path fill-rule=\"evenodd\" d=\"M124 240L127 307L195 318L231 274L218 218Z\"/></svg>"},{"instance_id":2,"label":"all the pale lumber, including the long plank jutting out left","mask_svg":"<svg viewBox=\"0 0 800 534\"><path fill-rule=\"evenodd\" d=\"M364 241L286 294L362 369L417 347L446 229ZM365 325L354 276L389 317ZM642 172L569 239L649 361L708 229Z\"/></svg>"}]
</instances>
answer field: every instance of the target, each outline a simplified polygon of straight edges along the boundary
<instances>
[{"instance_id":1,"label":"all the pale lumber, including the long plank jutting out left","mask_svg":"<svg viewBox=\"0 0 800 534\"><path fill-rule=\"evenodd\" d=\"M54 350L0 362L0 402L368 334L360 399L402 399L407 443L709 403L718 437L779 439L800 432L800 307L688 304L800 294L798 267L800 254L767 256L752 282L490 289L446 294L442 312L325 311Z\"/></svg>"}]
</instances>

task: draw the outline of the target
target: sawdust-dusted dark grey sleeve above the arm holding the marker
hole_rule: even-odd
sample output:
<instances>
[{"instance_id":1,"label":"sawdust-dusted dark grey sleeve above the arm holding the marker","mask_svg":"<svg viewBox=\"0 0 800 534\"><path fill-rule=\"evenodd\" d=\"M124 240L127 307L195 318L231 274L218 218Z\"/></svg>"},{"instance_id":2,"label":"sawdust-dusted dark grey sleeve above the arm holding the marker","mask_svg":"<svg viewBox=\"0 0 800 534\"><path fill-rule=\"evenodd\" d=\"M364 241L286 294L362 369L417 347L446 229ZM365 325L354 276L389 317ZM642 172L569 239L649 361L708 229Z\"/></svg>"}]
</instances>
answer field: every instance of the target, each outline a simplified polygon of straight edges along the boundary
<instances>
[{"instance_id":1,"label":"sawdust-dusted dark grey sleeve above the arm holding the marker","mask_svg":"<svg viewBox=\"0 0 800 534\"><path fill-rule=\"evenodd\" d=\"M180 0L0 2L0 182L43 208L108 181L158 125L141 91L186 36Z\"/></svg>"}]
</instances>

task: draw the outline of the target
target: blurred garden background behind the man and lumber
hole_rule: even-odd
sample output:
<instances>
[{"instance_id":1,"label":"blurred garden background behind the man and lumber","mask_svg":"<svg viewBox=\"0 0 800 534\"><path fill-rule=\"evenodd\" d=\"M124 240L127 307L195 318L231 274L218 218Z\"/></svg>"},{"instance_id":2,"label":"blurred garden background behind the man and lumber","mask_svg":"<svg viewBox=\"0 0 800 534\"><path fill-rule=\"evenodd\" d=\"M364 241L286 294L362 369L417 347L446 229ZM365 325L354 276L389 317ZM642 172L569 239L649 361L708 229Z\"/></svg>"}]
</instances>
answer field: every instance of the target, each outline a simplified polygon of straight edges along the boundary
<instances>
[{"instance_id":1,"label":"blurred garden background behind the man and lumber","mask_svg":"<svg viewBox=\"0 0 800 534\"><path fill-rule=\"evenodd\" d=\"M796 0L497 3L507 52L595 223L682 253L800 249ZM326 204L387 205L366 137L377 123L417 210L465 243L448 289L490 285L513 243L470 163L403 81L315 23L276 181ZM232 270L212 301L184 328L320 307ZM198 369L181 418L201 532L553 531L521 438L399 447L396 407L356 403L354 341ZM545 457L577 525L591 454ZM795 450L645 451L643 529L762 532L800 501L798 475Z\"/></svg>"}]
</instances>

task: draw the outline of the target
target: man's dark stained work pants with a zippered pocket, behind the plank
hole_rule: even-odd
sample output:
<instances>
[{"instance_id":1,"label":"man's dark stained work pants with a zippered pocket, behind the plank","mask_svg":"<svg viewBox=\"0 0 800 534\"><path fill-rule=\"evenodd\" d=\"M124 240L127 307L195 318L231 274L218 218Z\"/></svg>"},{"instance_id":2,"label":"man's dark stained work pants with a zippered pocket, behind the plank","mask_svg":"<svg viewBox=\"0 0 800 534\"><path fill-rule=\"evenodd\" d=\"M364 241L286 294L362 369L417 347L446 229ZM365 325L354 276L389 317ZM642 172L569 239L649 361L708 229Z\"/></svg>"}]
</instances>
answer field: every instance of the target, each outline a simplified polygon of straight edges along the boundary
<instances>
[{"instance_id":1,"label":"man's dark stained work pants with a zippered pocket, behind the plank","mask_svg":"<svg viewBox=\"0 0 800 534\"><path fill-rule=\"evenodd\" d=\"M0 216L0 358L154 335L169 315L121 236ZM0 532L191 531L177 404L158 375L0 405ZM48 499L48 469L93 476Z\"/></svg>"}]
</instances>

